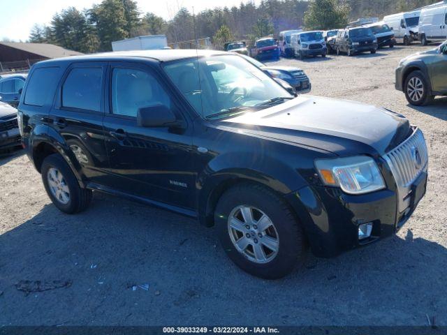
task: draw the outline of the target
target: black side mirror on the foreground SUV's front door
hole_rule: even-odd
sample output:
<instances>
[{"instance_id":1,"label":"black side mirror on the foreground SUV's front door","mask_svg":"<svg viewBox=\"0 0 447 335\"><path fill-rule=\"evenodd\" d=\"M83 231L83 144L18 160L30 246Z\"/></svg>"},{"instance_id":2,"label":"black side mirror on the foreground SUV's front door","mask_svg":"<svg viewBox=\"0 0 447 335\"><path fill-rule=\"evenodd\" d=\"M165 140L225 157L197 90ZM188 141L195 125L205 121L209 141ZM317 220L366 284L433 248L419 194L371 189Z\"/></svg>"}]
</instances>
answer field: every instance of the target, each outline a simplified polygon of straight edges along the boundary
<instances>
[{"instance_id":1,"label":"black side mirror on the foreground SUV's front door","mask_svg":"<svg viewBox=\"0 0 447 335\"><path fill-rule=\"evenodd\" d=\"M140 127L171 127L178 126L177 118L172 110L165 105L142 107L137 112L137 124Z\"/></svg>"}]
</instances>

